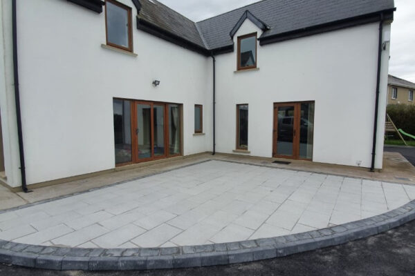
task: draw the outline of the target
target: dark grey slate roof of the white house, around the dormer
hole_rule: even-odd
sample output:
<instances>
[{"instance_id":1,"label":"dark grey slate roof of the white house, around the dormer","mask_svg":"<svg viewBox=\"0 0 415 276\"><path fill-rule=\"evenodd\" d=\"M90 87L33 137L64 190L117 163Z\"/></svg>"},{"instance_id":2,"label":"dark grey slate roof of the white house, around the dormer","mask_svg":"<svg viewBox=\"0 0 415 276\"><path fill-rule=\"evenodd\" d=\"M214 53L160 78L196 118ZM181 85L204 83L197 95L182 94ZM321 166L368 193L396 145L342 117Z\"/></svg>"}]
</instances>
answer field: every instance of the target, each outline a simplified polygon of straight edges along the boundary
<instances>
[{"instance_id":1,"label":"dark grey slate roof of the white house, around the dormer","mask_svg":"<svg viewBox=\"0 0 415 276\"><path fill-rule=\"evenodd\" d=\"M259 39L394 10L394 0L262 0L194 23L156 0L139 0L140 19L206 50L232 46L231 30L248 10L270 26Z\"/></svg>"}]
</instances>

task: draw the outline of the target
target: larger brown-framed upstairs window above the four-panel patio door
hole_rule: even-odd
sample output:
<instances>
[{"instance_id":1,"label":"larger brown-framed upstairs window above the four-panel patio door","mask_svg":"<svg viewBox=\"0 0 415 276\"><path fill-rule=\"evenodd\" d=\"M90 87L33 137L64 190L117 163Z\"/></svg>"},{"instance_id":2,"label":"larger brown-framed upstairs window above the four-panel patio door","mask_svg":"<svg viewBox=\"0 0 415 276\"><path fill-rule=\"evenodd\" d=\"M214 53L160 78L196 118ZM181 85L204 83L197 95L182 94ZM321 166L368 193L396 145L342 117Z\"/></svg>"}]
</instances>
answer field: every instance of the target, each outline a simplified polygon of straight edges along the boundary
<instances>
[{"instance_id":1,"label":"larger brown-framed upstairs window above the four-panel patio door","mask_svg":"<svg viewBox=\"0 0 415 276\"><path fill-rule=\"evenodd\" d=\"M105 1L107 45L133 51L131 8L114 0Z\"/></svg>"}]
</instances>

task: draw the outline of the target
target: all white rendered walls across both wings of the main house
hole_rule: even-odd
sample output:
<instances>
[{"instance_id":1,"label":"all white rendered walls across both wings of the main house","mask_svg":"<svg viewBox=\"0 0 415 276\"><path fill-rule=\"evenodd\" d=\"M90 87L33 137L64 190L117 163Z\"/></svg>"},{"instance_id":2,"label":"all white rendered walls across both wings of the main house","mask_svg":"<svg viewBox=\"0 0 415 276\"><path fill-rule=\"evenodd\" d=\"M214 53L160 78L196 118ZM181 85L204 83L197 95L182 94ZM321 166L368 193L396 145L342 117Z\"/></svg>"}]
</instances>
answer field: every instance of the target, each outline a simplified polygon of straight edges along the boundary
<instances>
[{"instance_id":1,"label":"all white rendered walls across both wings of the main house","mask_svg":"<svg viewBox=\"0 0 415 276\"><path fill-rule=\"evenodd\" d=\"M102 48L105 13L65 0L17 1L21 115L28 184L115 167L113 97L183 103L183 153L212 150L212 59L136 29L137 57ZM10 14L10 1L2 1ZM3 17L11 22L11 17ZM10 186L21 184L12 86L11 25L0 108ZM390 26L385 25L385 31ZM236 105L249 105L250 155L272 157L273 103L315 101L313 161L371 166L378 23L257 48L259 70L237 70L237 37L261 30L246 20L235 51L216 56L216 151L236 146ZM389 47L382 52L378 152L382 167ZM158 79L160 86L152 86ZM3 88L4 87L4 88ZM194 136L194 104L203 132Z\"/></svg>"}]
</instances>

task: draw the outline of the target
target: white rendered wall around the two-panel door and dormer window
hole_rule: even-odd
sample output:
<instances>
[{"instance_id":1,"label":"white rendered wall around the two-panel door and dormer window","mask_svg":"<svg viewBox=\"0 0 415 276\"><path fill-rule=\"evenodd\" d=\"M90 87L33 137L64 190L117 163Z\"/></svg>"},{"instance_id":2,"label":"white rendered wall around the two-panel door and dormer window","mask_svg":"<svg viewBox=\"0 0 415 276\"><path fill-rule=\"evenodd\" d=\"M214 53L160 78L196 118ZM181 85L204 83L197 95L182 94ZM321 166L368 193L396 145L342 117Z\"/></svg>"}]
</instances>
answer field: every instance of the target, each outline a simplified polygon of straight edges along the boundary
<instances>
[{"instance_id":1,"label":"white rendered wall around the two-panel door and dormer window","mask_svg":"<svg viewBox=\"0 0 415 276\"><path fill-rule=\"evenodd\" d=\"M234 36L235 49L237 37L252 32L261 35L246 20ZM382 167L389 49L382 57L376 168ZM234 72L236 51L216 61L218 152L235 149L238 103L249 104L250 155L272 157L273 103L315 101L313 161L371 166L378 23L266 46L258 43L257 71Z\"/></svg>"}]
</instances>

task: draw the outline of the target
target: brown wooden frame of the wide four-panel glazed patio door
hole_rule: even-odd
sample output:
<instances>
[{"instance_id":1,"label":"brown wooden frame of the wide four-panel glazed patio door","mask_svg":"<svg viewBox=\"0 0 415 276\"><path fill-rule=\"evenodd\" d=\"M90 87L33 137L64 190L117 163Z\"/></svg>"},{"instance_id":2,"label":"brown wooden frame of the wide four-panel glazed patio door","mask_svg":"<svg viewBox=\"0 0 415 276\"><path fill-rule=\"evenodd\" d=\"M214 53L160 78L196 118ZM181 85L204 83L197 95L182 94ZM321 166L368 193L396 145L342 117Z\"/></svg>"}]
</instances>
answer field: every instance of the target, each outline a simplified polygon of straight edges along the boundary
<instances>
[{"instance_id":1,"label":"brown wooden frame of the wide four-panel glazed patio door","mask_svg":"<svg viewBox=\"0 0 415 276\"><path fill-rule=\"evenodd\" d=\"M116 163L116 167L127 166L132 164L139 164L147 161L154 161L158 159L167 159L172 157L179 157L183 155L183 104L181 103L166 103L160 101L141 101L136 99L123 99L123 98L113 98L122 101L130 101L131 105L131 161L126 163ZM137 128L137 105L147 105L151 108L151 157L149 158L138 158L138 133L136 132ZM180 143L180 152L175 155L170 155L169 148L169 105L176 105L179 108L179 135L181 139ZM165 144L165 154L160 156L154 156L154 106L163 106L164 108L164 144Z\"/></svg>"}]
</instances>

